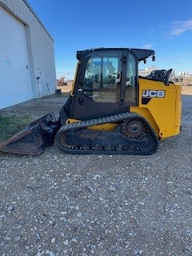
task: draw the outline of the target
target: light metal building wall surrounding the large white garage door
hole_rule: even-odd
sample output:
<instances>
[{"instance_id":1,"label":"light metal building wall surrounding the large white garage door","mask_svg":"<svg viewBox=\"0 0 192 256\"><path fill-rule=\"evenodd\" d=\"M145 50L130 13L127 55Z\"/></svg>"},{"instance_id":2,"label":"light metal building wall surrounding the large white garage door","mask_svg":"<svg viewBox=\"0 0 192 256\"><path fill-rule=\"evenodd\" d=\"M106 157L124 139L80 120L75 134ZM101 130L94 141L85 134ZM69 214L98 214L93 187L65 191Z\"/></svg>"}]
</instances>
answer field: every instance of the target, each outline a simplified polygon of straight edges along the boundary
<instances>
[{"instance_id":1,"label":"light metal building wall surrounding the large white garage door","mask_svg":"<svg viewBox=\"0 0 192 256\"><path fill-rule=\"evenodd\" d=\"M33 97L40 98L47 94L54 94L56 72L53 38L26 0L0 0L0 6L25 25ZM17 34L16 30L15 33ZM2 38L1 35L0 38ZM15 43L18 44L18 42ZM10 54L14 52L10 50ZM41 81L37 79L38 70L41 70Z\"/></svg>"}]
</instances>

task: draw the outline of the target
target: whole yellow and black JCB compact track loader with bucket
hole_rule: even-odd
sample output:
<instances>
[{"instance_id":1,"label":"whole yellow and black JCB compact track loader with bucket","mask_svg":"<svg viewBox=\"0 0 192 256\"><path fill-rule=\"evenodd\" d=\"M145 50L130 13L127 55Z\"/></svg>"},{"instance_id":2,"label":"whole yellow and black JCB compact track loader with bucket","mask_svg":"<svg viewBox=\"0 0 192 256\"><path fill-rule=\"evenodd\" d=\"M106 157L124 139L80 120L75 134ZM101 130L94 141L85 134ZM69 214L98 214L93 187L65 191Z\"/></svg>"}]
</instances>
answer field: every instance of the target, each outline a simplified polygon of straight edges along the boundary
<instances>
[{"instance_id":1,"label":"whole yellow and black JCB compact track loader with bucket","mask_svg":"<svg viewBox=\"0 0 192 256\"><path fill-rule=\"evenodd\" d=\"M0 150L41 154L55 145L70 154L153 154L159 139L179 134L181 86L171 70L138 76L154 50L101 48L77 52L73 90L56 120L47 114L0 144Z\"/></svg>"}]
</instances>

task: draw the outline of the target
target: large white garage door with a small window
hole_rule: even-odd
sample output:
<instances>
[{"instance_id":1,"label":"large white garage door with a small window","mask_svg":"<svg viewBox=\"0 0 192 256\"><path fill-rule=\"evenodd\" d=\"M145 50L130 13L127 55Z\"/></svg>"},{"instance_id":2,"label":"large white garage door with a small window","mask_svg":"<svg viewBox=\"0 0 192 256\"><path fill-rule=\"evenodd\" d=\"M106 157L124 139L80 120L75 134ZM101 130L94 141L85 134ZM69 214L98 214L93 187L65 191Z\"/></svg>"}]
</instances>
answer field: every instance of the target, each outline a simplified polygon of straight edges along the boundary
<instances>
[{"instance_id":1,"label":"large white garage door with a small window","mask_svg":"<svg viewBox=\"0 0 192 256\"><path fill-rule=\"evenodd\" d=\"M25 26L0 6L0 109L31 98Z\"/></svg>"}]
</instances>

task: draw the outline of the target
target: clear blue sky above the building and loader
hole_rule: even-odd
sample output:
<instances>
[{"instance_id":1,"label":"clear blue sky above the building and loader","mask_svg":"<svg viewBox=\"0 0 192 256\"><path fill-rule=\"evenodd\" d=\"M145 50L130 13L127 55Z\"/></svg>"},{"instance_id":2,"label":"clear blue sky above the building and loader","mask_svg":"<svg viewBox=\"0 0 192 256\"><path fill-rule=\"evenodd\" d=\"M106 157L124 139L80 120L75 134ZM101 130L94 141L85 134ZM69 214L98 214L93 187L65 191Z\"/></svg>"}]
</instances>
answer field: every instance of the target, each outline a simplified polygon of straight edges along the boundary
<instances>
[{"instance_id":1,"label":"clear blue sky above the building and loader","mask_svg":"<svg viewBox=\"0 0 192 256\"><path fill-rule=\"evenodd\" d=\"M192 74L192 1L28 0L54 38L57 77L73 78L76 51L153 49L145 66Z\"/></svg>"}]
</instances>

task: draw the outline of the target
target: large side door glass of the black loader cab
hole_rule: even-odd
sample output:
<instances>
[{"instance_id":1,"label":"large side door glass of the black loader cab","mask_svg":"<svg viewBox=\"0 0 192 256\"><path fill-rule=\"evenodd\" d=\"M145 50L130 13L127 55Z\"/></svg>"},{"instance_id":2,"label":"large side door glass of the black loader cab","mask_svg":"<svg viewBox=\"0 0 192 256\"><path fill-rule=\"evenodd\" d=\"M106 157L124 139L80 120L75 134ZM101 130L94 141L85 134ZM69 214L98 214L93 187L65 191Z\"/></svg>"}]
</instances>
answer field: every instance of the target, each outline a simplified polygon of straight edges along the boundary
<instances>
[{"instance_id":1,"label":"large side door glass of the black loader cab","mask_svg":"<svg viewBox=\"0 0 192 256\"><path fill-rule=\"evenodd\" d=\"M121 53L90 54L82 82L83 94L94 102L119 102Z\"/></svg>"}]
</instances>

